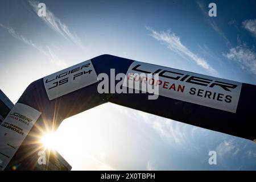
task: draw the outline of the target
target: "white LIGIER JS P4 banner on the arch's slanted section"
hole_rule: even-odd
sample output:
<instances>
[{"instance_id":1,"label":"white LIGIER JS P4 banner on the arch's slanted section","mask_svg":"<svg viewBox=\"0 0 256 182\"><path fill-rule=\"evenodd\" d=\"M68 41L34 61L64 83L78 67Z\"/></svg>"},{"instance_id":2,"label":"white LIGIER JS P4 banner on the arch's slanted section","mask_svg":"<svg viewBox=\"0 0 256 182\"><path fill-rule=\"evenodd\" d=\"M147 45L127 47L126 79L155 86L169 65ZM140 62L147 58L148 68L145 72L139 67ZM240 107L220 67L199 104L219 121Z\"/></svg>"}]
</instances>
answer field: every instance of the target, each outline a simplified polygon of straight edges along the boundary
<instances>
[{"instance_id":1,"label":"white LIGIER JS P4 banner on the arch's slanted section","mask_svg":"<svg viewBox=\"0 0 256 182\"><path fill-rule=\"evenodd\" d=\"M64 96L98 81L92 61L63 69L43 78L49 100Z\"/></svg>"}]
</instances>

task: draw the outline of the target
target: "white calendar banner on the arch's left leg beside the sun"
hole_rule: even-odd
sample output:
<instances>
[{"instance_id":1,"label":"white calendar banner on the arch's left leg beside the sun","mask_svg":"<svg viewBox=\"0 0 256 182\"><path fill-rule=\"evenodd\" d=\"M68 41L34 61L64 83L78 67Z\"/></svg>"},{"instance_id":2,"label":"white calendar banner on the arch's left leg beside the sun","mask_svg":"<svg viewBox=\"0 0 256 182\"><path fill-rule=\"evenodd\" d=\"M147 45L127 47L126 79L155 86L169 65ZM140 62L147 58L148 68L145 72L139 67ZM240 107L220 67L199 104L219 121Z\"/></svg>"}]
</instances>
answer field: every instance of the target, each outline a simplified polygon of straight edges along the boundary
<instances>
[{"instance_id":1,"label":"white calendar banner on the arch's left leg beside the sun","mask_svg":"<svg viewBox=\"0 0 256 182\"><path fill-rule=\"evenodd\" d=\"M40 114L30 106L17 103L3 120L0 125L0 170L9 164Z\"/></svg>"}]
</instances>

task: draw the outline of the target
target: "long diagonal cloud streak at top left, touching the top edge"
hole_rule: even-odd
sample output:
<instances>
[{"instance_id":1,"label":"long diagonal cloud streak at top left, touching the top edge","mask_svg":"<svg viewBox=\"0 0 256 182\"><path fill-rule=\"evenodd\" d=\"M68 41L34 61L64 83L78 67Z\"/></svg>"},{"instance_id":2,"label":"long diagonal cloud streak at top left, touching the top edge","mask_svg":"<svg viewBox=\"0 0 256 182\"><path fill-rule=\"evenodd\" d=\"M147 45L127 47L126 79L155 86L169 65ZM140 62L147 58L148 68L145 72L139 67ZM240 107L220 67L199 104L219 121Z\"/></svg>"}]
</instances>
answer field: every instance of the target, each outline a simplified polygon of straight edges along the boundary
<instances>
[{"instance_id":1,"label":"long diagonal cloud streak at top left, touching the top edge","mask_svg":"<svg viewBox=\"0 0 256 182\"><path fill-rule=\"evenodd\" d=\"M28 3L30 3L32 9L37 14L38 13L38 4L40 2L30 0L30 1L28 1ZM42 17L39 17L39 18L41 18L43 20L43 22L47 24L47 26L52 28L52 30L57 32L57 34L63 36L63 38L65 38L66 40L69 40L69 41L71 41L71 42L73 42L73 43L75 43L79 46L82 46L81 40L75 34L72 34L71 31L69 31L68 26L66 24L64 24L63 22L61 22L61 20L59 18L57 18L49 10L48 7L46 8L46 17L42 16Z\"/></svg>"}]
</instances>

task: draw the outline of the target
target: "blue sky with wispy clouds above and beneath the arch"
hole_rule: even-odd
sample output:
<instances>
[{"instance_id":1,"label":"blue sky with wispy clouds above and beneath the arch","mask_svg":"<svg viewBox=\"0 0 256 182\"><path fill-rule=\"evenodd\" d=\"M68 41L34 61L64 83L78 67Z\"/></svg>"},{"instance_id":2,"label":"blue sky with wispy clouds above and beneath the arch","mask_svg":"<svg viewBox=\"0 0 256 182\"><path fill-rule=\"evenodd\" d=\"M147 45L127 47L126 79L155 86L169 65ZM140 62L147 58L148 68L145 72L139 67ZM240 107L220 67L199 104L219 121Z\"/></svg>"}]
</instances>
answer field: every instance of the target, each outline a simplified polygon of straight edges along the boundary
<instances>
[{"instance_id":1,"label":"blue sky with wispy clouds above and beneath the arch","mask_svg":"<svg viewBox=\"0 0 256 182\"><path fill-rule=\"evenodd\" d=\"M30 82L104 53L256 84L256 1L43 2L46 18L37 1L0 1L0 89L12 101ZM66 119L56 138L73 169L256 169L249 140L114 104Z\"/></svg>"}]
</instances>

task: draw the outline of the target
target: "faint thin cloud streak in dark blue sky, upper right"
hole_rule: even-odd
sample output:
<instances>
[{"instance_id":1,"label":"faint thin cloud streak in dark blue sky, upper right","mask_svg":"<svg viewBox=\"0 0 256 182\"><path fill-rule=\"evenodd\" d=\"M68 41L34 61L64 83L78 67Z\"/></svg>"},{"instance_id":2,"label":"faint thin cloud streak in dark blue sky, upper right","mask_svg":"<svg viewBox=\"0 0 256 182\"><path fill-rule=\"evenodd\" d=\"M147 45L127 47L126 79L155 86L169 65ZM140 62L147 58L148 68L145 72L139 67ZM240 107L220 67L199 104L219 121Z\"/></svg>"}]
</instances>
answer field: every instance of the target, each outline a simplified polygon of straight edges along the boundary
<instances>
[{"instance_id":1,"label":"faint thin cloud streak in dark blue sky, upper right","mask_svg":"<svg viewBox=\"0 0 256 182\"><path fill-rule=\"evenodd\" d=\"M229 43L228 38L226 38L224 32L221 30L220 27L218 27L217 23L214 21L214 18L210 18L207 11L207 5L205 5L203 2L197 1L197 5L199 6L200 10L204 14L205 18L207 18L207 22L210 24L210 26L213 28L214 31L216 31L222 38L226 40L227 43Z\"/></svg>"}]
</instances>

